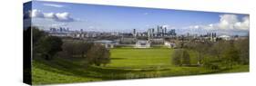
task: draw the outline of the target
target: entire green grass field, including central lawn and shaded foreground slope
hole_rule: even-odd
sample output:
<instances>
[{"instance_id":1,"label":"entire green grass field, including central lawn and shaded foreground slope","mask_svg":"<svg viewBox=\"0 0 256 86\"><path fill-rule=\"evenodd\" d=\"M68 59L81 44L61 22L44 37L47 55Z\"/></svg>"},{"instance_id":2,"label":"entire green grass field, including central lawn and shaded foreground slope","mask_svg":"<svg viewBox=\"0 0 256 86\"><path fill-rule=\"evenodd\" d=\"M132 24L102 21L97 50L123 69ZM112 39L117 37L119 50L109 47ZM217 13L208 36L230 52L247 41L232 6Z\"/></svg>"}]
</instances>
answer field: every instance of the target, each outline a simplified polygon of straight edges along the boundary
<instances>
[{"instance_id":1,"label":"entire green grass field, including central lawn and shaded foreground slope","mask_svg":"<svg viewBox=\"0 0 256 86\"><path fill-rule=\"evenodd\" d=\"M248 65L237 65L231 70L207 70L203 67L176 67L171 64L173 49L116 48L111 49L111 62L103 67L86 67L82 58L36 59L33 62L33 84L109 81L138 78L197 75L217 72L249 72ZM189 52L191 63L195 53Z\"/></svg>"}]
</instances>

